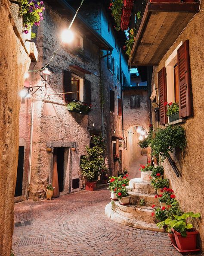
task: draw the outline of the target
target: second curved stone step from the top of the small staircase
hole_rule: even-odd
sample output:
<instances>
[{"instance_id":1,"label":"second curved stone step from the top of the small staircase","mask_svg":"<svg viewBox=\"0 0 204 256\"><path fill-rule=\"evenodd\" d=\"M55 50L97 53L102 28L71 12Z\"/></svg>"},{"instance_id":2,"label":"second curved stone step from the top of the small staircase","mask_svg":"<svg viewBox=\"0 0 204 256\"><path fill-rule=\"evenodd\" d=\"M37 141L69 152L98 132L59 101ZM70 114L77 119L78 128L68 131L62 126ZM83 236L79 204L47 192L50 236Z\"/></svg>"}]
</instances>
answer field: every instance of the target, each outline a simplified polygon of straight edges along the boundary
<instances>
[{"instance_id":1,"label":"second curved stone step from the top of the small staircase","mask_svg":"<svg viewBox=\"0 0 204 256\"><path fill-rule=\"evenodd\" d=\"M140 194L137 192L129 191L128 194L130 195L130 203L132 205L140 205L140 200L145 200L145 206L160 206L160 203L158 201L158 198L155 198L155 195L149 195L149 194Z\"/></svg>"}]
</instances>

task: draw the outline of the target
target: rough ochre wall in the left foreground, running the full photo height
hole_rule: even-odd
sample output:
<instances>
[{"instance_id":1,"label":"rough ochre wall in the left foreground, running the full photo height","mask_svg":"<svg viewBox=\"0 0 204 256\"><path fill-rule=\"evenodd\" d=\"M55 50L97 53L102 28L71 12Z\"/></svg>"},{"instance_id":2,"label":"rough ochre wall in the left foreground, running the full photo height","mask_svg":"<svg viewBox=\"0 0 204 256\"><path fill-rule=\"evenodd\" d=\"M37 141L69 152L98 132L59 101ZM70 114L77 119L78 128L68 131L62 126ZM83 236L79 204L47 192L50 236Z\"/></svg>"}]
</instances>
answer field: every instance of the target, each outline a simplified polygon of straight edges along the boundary
<instances>
[{"instance_id":1,"label":"rough ochre wall in the left foreground, running the full photo height","mask_svg":"<svg viewBox=\"0 0 204 256\"><path fill-rule=\"evenodd\" d=\"M9 12L9 1L0 3L0 255L10 256L13 201L19 146L19 91L30 58Z\"/></svg>"}]
</instances>

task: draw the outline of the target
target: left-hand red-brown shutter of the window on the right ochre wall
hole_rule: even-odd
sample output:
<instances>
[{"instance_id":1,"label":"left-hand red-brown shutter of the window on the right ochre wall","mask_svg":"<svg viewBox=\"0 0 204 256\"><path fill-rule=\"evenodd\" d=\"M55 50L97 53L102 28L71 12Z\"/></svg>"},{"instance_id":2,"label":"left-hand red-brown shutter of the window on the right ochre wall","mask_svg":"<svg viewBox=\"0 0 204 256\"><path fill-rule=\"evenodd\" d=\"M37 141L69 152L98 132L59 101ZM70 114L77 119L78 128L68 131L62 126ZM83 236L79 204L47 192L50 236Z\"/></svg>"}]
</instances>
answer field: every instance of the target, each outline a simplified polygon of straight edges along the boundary
<instances>
[{"instance_id":1,"label":"left-hand red-brown shutter of the window on the right ochre wall","mask_svg":"<svg viewBox=\"0 0 204 256\"><path fill-rule=\"evenodd\" d=\"M164 102L167 101L166 67L163 67L158 73L158 87L160 124L165 125L167 123L167 106L164 106Z\"/></svg>"}]
</instances>

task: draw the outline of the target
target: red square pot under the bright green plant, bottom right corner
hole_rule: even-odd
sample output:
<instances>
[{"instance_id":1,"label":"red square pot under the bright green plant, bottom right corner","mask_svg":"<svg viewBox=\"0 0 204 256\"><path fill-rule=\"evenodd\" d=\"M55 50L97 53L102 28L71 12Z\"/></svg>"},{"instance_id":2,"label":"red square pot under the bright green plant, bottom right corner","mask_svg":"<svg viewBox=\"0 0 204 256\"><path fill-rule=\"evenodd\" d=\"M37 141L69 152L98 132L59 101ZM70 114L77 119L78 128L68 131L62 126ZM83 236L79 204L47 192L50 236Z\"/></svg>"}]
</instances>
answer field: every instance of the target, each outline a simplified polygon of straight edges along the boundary
<instances>
[{"instance_id":1,"label":"red square pot under the bright green plant, bottom right corner","mask_svg":"<svg viewBox=\"0 0 204 256\"><path fill-rule=\"evenodd\" d=\"M187 236L182 237L181 233L173 228L171 229L175 235L176 245L180 251L191 251L196 249L196 239L198 231L186 232Z\"/></svg>"}]
</instances>

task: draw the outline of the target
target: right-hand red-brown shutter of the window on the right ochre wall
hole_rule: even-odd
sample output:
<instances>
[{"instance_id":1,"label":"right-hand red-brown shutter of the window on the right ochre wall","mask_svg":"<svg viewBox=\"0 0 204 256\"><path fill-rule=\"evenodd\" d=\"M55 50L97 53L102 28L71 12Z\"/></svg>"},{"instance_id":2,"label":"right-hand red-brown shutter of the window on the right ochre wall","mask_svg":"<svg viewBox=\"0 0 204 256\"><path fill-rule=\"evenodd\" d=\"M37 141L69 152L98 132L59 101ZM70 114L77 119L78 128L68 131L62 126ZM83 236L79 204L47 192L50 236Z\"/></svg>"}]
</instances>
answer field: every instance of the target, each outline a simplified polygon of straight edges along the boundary
<instances>
[{"instance_id":1,"label":"right-hand red-brown shutter of the window on the right ochre wall","mask_svg":"<svg viewBox=\"0 0 204 256\"><path fill-rule=\"evenodd\" d=\"M189 60L189 40L186 40L178 49L179 69L179 117L191 115L191 72Z\"/></svg>"}]
</instances>

